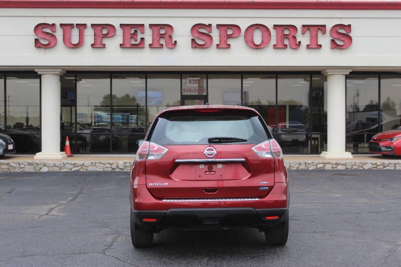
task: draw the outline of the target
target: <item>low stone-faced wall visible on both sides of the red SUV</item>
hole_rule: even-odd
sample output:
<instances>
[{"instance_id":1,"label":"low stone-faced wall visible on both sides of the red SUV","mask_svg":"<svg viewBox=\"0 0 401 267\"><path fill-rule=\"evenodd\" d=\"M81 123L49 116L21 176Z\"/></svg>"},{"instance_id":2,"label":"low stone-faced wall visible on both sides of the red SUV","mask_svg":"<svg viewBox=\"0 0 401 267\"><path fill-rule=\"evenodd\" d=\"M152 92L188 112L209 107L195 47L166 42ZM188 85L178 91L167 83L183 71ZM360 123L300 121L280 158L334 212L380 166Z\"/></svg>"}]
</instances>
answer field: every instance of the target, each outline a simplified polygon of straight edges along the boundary
<instances>
[{"instance_id":1,"label":"low stone-faced wall visible on both sides of the red SUV","mask_svg":"<svg viewBox=\"0 0 401 267\"><path fill-rule=\"evenodd\" d=\"M401 170L401 160L383 161L288 161L288 170ZM0 172L129 172L130 161L8 161L0 160Z\"/></svg>"}]
</instances>

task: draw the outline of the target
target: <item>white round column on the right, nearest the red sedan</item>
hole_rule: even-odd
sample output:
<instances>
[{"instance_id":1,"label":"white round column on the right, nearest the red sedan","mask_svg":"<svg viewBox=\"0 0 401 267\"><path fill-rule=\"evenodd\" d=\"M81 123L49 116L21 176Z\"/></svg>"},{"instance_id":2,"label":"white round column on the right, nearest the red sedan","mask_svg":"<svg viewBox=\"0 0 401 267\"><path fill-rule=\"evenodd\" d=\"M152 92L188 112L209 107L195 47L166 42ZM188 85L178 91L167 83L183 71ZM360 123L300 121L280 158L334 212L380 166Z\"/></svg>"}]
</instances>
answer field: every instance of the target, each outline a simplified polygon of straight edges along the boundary
<instances>
[{"instance_id":1,"label":"white round column on the right, nearest the red sedan","mask_svg":"<svg viewBox=\"0 0 401 267\"><path fill-rule=\"evenodd\" d=\"M327 69L327 151L322 158L352 158L345 151L345 75L350 69Z\"/></svg>"}]
</instances>

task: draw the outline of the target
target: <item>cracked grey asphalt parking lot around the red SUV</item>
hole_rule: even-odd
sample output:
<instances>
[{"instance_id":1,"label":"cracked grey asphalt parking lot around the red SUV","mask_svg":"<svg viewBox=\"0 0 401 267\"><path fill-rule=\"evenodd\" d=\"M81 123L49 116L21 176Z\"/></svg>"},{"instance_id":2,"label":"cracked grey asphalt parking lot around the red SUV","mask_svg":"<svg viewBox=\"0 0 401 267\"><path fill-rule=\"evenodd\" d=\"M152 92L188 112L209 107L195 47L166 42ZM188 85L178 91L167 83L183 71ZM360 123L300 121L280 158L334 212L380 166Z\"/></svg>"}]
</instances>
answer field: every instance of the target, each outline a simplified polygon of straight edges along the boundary
<instances>
[{"instance_id":1,"label":"cracked grey asphalt parking lot around the red SUV","mask_svg":"<svg viewBox=\"0 0 401 267\"><path fill-rule=\"evenodd\" d=\"M165 230L130 240L127 172L0 174L0 266L399 266L400 171L291 171L290 236Z\"/></svg>"}]
</instances>

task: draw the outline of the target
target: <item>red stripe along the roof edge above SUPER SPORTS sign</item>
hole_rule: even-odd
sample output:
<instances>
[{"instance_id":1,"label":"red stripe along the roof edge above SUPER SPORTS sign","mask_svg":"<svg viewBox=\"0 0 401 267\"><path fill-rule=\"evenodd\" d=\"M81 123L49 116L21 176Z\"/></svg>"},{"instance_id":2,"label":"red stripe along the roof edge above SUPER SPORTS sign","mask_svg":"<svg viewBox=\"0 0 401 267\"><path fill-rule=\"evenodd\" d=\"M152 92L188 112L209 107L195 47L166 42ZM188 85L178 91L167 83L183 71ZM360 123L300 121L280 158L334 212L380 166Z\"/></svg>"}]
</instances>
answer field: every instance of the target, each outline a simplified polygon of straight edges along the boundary
<instances>
[{"instance_id":1,"label":"red stripe along the roof edge above SUPER SPORTS sign","mask_svg":"<svg viewBox=\"0 0 401 267\"><path fill-rule=\"evenodd\" d=\"M401 10L400 1L316 0L0 0L0 8L205 8Z\"/></svg>"}]
</instances>

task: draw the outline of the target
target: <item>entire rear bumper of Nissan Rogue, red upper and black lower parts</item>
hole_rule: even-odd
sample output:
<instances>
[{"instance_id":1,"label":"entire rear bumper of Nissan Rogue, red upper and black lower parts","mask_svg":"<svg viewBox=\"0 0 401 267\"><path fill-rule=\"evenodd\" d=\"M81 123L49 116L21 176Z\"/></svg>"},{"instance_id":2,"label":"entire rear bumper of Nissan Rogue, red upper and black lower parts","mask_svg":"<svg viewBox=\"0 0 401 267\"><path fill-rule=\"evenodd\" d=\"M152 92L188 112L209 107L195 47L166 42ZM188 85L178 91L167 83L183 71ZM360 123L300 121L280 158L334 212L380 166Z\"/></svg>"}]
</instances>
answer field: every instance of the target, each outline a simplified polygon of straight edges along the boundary
<instances>
[{"instance_id":1,"label":"entire rear bumper of Nissan Rogue, red upper and black lower parts","mask_svg":"<svg viewBox=\"0 0 401 267\"><path fill-rule=\"evenodd\" d=\"M287 183L275 183L266 196L254 201L166 202L152 196L146 185L134 186L130 198L135 223L152 229L270 227L286 219L289 206ZM265 216L278 218L267 220Z\"/></svg>"}]
</instances>

